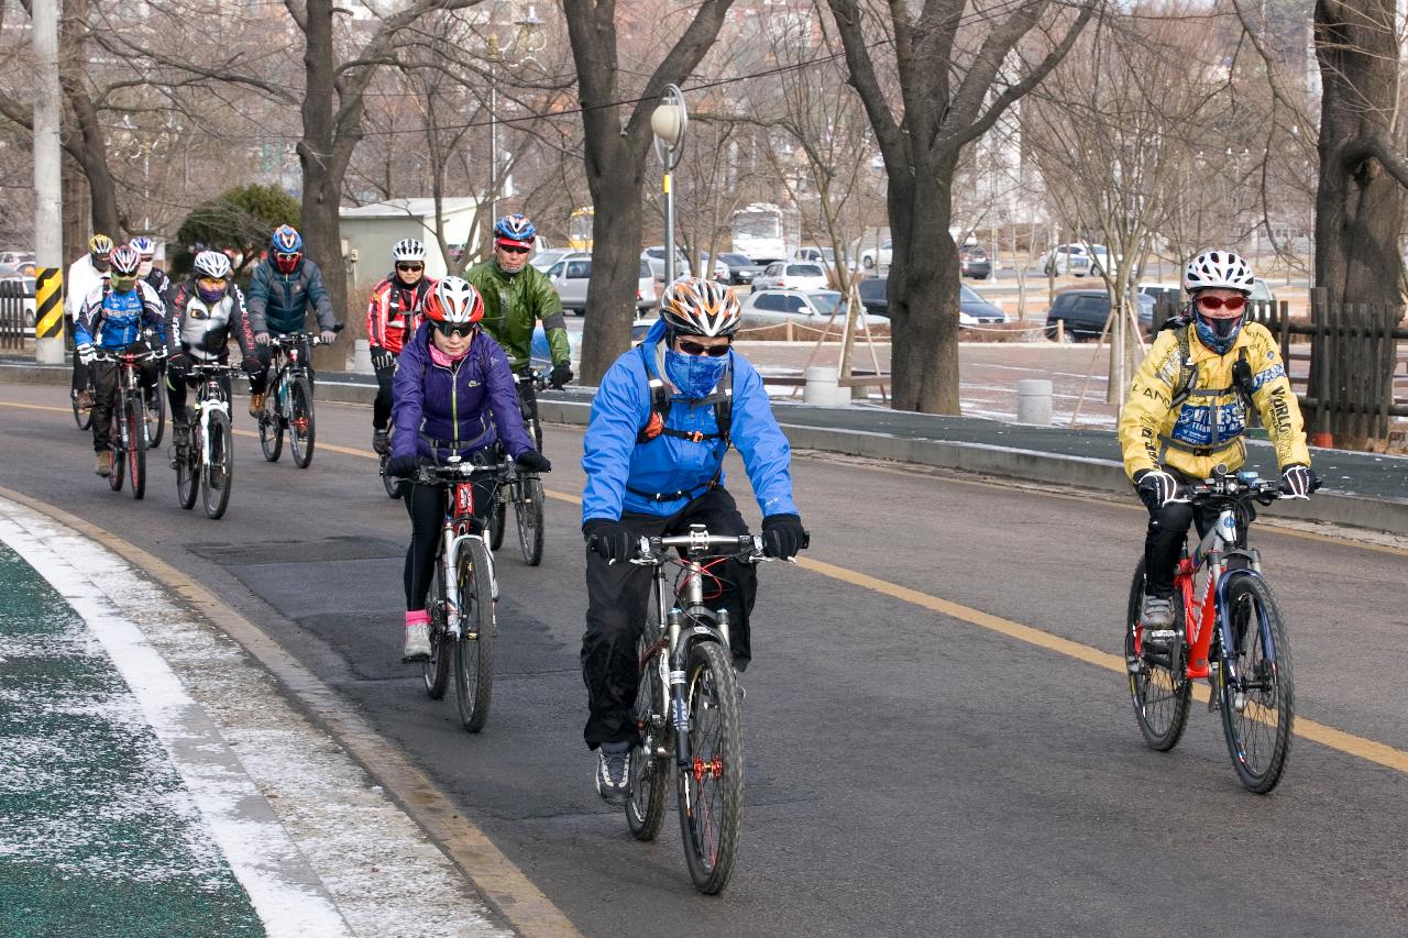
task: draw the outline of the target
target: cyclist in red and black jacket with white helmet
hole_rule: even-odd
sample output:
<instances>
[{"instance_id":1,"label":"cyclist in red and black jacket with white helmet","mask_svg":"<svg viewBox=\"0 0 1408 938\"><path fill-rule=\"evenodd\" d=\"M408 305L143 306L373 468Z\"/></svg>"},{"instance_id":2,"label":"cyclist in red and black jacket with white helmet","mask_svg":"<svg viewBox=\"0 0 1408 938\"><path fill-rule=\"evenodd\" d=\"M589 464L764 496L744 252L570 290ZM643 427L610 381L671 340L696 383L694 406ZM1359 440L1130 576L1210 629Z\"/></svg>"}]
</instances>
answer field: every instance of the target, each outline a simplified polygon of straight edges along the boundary
<instances>
[{"instance_id":1,"label":"cyclist in red and black jacket with white helmet","mask_svg":"<svg viewBox=\"0 0 1408 938\"><path fill-rule=\"evenodd\" d=\"M372 289L366 306L366 337L376 369L376 400L372 401L372 449L390 452L386 424L391 418L391 377L396 356L421 324L425 297L435 280L425 276L425 244L403 238L391 248L394 270Z\"/></svg>"}]
</instances>

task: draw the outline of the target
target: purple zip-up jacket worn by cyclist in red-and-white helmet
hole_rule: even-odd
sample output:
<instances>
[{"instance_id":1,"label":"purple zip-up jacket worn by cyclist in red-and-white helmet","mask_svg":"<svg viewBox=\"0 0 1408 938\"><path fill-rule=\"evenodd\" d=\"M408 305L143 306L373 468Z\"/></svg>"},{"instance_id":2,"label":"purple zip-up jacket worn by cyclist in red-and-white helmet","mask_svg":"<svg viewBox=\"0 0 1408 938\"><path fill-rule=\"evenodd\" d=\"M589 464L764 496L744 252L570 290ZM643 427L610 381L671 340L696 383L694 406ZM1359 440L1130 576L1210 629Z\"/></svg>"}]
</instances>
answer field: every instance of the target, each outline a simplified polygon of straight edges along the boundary
<instances>
[{"instance_id":1,"label":"purple zip-up jacket worn by cyclist in red-and-white helmet","mask_svg":"<svg viewBox=\"0 0 1408 938\"><path fill-rule=\"evenodd\" d=\"M479 331L469 354L446 368L431 361L429 342L431 324L422 323L397 359L391 455L463 459L498 439L514 458L532 449L504 349Z\"/></svg>"}]
</instances>

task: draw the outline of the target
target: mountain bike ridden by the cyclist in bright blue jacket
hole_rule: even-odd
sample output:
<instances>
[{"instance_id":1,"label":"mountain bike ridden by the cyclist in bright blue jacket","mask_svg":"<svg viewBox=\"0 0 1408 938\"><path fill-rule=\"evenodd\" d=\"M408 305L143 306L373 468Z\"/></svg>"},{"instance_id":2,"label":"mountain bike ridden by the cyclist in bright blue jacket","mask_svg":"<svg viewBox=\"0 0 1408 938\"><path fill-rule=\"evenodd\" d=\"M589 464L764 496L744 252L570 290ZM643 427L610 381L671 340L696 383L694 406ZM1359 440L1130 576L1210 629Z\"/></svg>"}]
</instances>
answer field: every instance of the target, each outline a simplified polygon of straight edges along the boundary
<instances>
[{"instance_id":1,"label":"mountain bike ridden by the cyclist in bright blue jacket","mask_svg":"<svg viewBox=\"0 0 1408 938\"><path fill-rule=\"evenodd\" d=\"M707 894L722 892L734 873L743 815L743 728L728 610L710 608L704 593L710 570L731 558L773 559L760 537L714 535L691 524L689 534L641 538L631 561L655 568L655 580L636 644L639 745L631 753L627 825L636 839L655 839L673 773L684 859ZM673 587L669 566L679 568Z\"/></svg>"}]
</instances>

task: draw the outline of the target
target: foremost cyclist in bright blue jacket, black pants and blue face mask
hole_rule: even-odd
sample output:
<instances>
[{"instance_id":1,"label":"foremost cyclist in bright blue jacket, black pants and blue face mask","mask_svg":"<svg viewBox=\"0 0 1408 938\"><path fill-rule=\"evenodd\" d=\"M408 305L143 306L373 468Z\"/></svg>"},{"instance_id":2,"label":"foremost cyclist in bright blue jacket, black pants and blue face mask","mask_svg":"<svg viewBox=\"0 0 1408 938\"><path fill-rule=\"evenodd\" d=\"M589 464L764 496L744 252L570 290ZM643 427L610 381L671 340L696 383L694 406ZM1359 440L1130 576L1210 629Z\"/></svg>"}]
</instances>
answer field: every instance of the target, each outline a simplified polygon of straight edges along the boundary
<instances>
[{"instance_id":1,"label":"foremost cyclist in bright blue jacket, black pants and blue face mask","mask_svg":"<svg viewBox=\"0 0 1408 938\"><path fill-rule=\"evenodd\" d=\"M631 751L639 745L631 708L636 639L645 627L650 570L629 563L642 535L704 524L710 534L746 534L724 487L724 455L736 445L763 513L770 556L791 558L805 531L791 494L791 449L773 417L763 380L732 351L741 321L732 287L687 277L660 299L660 320L615 361L591 401L583 441L587 475L582 534L587 539L587 630L582 676L590 713L583 732L598 749L597 793L629 799ZM752 658L749 613L758 576L749 563L715 568L731 617L734 666Z\"/></svg>"}]
</instances>

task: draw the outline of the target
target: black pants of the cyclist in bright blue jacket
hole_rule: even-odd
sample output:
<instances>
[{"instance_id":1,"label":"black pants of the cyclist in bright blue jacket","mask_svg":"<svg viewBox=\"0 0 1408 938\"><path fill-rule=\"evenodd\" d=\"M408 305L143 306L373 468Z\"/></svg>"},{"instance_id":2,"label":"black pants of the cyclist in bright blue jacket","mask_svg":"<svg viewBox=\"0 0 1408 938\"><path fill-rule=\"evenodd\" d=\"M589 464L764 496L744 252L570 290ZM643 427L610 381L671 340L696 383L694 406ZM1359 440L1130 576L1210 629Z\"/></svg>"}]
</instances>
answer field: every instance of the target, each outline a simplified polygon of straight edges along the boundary
<instances>
[{"instance_id":1,"label":"black pants of the cyclist in bright blue jacket","mask_svg":"<svg viewBox=\"0 0 1408 938\"><path fill-rule=\"evenodd\" d=\"M712 489L690 501L677 514L663 518L653 514L625 513L621 523L645 537L684 534L690 524L703 524L710 534L746 534L748 525L738 504L724 489ZM749 614L758 599L758 572L750 563L727 561L714 568L718 583L705 579L704 594L715 589L711 607L729 615L729 644L734 666L743 670L752 659ZM635 690L639 661L635 642L645 628L650 601L653 570L634 563L607 563L594 551L587 552L587 634L582 638L582 679L587 684L590 713L583 737L596 749L603 742L635 741Z\"/></svg>"}]
</instances>

